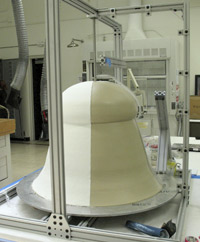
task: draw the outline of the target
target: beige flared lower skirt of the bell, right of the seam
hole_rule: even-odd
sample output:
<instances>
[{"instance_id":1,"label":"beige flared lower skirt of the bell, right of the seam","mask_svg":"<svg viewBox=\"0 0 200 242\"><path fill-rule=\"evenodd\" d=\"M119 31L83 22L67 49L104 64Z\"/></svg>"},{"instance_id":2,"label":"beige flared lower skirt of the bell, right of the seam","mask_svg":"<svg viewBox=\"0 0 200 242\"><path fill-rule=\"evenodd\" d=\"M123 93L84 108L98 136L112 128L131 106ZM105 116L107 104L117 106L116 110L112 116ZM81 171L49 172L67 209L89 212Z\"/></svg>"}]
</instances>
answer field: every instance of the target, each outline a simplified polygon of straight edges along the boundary
<instances>
[{"instance_id":1,"label":"beige flared lower skirt of the bell, right of the seam","mask_svg":"<svg viewBox=\"0 0 200 242\"><path fill-rule=\"evenodd\" d=\"M91 206L134 203L161 190L135 120L93 124L91 143Z\"/></svg>"}]
</instances>

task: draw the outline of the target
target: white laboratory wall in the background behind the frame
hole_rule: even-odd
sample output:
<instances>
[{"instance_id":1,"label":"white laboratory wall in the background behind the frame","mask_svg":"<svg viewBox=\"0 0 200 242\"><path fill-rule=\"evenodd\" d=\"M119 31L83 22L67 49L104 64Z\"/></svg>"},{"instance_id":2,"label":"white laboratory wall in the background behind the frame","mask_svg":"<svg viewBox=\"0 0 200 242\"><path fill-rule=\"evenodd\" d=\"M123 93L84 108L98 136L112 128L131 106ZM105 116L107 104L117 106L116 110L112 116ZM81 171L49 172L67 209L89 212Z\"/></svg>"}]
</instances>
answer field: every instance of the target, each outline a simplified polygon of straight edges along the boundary
<instances>
[{"instance_id":1,"label":"white laboratory wall in the background behind the frame","mask_svg":"<svg viewBox=\"0 0 200 242\"><path fill-rule=\"evenodd\" d=\"M143 4L158 4L177 2L179 0L143 0ZM9 46L17 45L15 24L12 14L11 1L0 0L0 59L17 58L17 48ZM28 30L30 45L30 57L42 56L43 47L40 43L45 40L45 8L44 0L24 0L24 10ZM128 5L128 0L87 0L95 7L118 7ZM194 93L194 75L200 73L200 1L192 0L191 4L191 94ZM175 15L176 14L176 15ZM128 16L119 16L117 21L123 24L123 32L127 30ZM180 45L183 45L182 37L177 35L177 31L182 29L182 20L179 13L153 13L151 17L143 17L143 28L147 37L176 37ZM102 40L112 38L112 30L105 25L97 24L97 39ZM83 39L85 42L92 41L92 21L87 19L83 13L61 2L61 58L62 58L62 87L63 90L68 86L78 82L82 71L82 48L67 48L72 38ZM33 46L35 45L35 46ZM182 54L180 54L182 60ZM32 104L32 76L31 65L27 74L27 79L23 85L23 126L26 136L31 136L30 127L33 126Z\"/></svg>"}]
</instances>

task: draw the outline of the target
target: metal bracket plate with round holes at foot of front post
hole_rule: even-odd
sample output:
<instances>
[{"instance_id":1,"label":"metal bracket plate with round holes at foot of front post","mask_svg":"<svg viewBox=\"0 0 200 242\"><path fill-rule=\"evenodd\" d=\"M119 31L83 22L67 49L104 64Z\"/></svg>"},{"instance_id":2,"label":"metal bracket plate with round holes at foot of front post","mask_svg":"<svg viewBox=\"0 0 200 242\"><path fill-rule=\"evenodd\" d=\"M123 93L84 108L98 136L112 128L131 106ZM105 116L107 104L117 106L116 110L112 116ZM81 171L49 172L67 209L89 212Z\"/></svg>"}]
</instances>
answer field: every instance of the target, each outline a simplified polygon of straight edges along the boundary
<instances>
[{"instance_id":1,"label":"metal bracket plate with round holes at foot of front post","mask_svg":"<svg viewBox=\"0 0 200 242\"><path fill-rule=\"evenodd\" d=\"M52 213L47 222L47 234L51 237L70 239L71 231L65 216Z\"/></svg>"}]
</instances>

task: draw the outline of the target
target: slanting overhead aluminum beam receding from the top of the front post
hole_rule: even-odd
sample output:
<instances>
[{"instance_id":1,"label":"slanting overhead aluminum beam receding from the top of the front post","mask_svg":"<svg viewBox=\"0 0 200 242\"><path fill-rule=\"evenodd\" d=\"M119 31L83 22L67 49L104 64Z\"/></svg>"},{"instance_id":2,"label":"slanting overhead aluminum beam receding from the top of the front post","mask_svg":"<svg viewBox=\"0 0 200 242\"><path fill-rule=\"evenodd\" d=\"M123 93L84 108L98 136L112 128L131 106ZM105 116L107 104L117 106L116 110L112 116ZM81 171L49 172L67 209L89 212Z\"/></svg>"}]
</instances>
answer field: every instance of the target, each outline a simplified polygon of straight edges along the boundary
<instances>
[{"instance_id":1,"label":"slanting overhead aluminum beam receding from the top of the front post","mask_svg":"<svg viewBox=\"0 0 200 242\"><path fill-rule=\"evenodd\" d=\"M98 15L98 10L89 4L85 3L82 0L63 0L63 2L68 3L72 7L79 9L81 12L87 14L90 17L96 17L100 22L108 25L109 27L115 29L115 30L120 30L122 29L121 24L117 23L113 19L110 19L107 16L99 16Z\"/></svg>"}]
</instances>

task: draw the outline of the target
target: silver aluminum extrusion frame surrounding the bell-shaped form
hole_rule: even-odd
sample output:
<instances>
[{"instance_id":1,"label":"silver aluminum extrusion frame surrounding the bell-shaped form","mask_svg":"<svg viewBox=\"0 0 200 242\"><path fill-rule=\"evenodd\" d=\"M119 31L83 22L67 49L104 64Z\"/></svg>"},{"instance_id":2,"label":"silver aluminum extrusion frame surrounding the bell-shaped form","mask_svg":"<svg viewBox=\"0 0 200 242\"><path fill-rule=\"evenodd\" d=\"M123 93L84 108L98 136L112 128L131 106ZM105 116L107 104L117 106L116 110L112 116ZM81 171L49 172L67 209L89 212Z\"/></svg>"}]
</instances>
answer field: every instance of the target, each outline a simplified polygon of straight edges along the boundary
<instances>
[{"instance_id":1,"label":"silver aluminum extrusion frame surrounding the bell-shaped form","mask_svg":"<svg viewBox=\"0 0 200 242\"><path fill-rule=\"evenodd\" d=\"M88 14L88 11L94 10L92 7L87 5L81 0L64 0L68 4L74 6L75 8L85 11ZM59 0L46 0L47 3L47 39L48 39L48 75L49 75L49 85L48 88L49 96L52 98L51 101L51 114L50 114L50 123L51 123L51 157L52 157L52 167L55 170L52 170L52 188L53 188L53 212L58 214L65 214L65 183L64 183L64 174L62 168L64 167L63 159L63 137L62 137L62 102L61 102L61 79L60 79L60 32L59 32ZM178 230L175 240L171 239L156 239L145 236L132 236L130 234L101 231L96 229L89 228L78 228L75 226L70 226L71 238L74 240L82 241L86 239L87 241L109 241L109 242L129 242L129 241L154 241L154 242L163 242L163 241L180 241L182 224L185 216L185 209L188 204L188 193L189 193L189 182L188 182L188 156L189 156L189 94L190 94L190 0L184 0L184 5L181 4L172 4L172 5L163 5L163 6L150 6L151 11L170 11L170 10L183 10L184 16L184 86L185 86L185 95L184 95L184 112L183 112L183 122L184 122L184 138L183 138L183 179L182 179L182 202L180 204L179 213L178 213ZM125 9L123 9L125 10ZM139 10L136 9L126 9L123 14L128 13L138 13L146 12L147 8L142 6ZM117 11L116 11L117 12ZM111 26L115 30L121 31L119 25L115 25L113 20L108 17L100 18L100 15L105 15L105 12L102 13L101 10L95 10L91 14L97 14L98 19ZM98 15L99 14L99 15ZM106 13L110 14L110 13ZM55 35L54 35L55 34ZM116 46L120 47L120 42L122 41L121 36L118 38L119 44ZM122 51L119 51L118 55L122 55ZM120 58L121 59L121 58ZM49 69L51 68L51 69ZM55 94L55 96L53 96ZM56 114L56 116L53 116ZM55 128L55 130L54 130ZM55 136L54 136L55 135ZM63 169L64 170L64 169ZM60 195L56 198L55 194ZM47 223L31 219L19 219L16 217L3 216L0 215L0 225L3 227L8 227L12 229L20 229L33 233L47 234Z\"/></svg>"}]
</instances>

